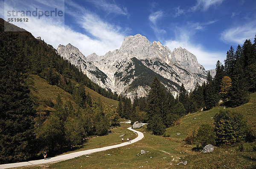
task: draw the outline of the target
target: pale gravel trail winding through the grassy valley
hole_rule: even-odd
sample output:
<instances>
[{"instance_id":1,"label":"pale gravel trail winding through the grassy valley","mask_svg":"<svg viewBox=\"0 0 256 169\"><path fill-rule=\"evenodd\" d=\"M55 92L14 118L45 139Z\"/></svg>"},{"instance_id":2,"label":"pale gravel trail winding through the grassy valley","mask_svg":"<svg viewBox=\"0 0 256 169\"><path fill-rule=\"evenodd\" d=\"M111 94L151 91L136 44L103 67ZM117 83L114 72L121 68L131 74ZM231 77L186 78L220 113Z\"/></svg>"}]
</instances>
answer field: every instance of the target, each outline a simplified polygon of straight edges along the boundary
<instances>
[{"instance_id":1,"label":"pale gravel trail winding through the grassy valley","mask_svg":"<svg viewBox=\"0 0 256 169\"><path fill-rule=\"evenodd\" d=\"M137 130L133 130L133 129L131 129L131 127L128 127L127 129L131 130L133 132L136 132L138 134L138 137L134 138L131 141L131 143L125 142L125 143L116 144L116 145L113 145L113 146L106 146L106 147L97 148L97 149L87 149L87 150L84 150L84 151L72 152L72 153L69 153L69 154L64 154L64 155L59 155L59 156L56 156L56 157L48 158L47 160L42 159L42 160L26 161L26 162L20 162L20 163L1 164L0 169L8 169L8 168L13 168L13 167L21 167L21 166L31 166L31 165L38 165L38 164L44 164L44 163L57 163L59 161L65 161L65 160L68 160L68 159L76 158L76 157L79 157L81 155L88 155L88 154L91 154L93 152L100 152L100 151L105 151L107 149L114 149L114 148L117 148L117 147L133 144L137 141L140 141L144 137L142 132L139 132Z\"/></svg>"}]
</instances>

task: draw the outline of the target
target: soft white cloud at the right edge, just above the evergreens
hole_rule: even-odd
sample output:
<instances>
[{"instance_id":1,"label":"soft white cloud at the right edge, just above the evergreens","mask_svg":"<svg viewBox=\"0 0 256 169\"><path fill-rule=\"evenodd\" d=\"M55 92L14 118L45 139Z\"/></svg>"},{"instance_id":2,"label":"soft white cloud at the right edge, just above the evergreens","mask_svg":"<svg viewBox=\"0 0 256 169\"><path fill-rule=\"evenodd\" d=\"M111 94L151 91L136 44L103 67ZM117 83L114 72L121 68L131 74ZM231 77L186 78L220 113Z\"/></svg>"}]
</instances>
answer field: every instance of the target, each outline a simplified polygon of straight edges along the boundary
<instances>
[{"instance_id":1,"label":"soft white cloud at the right edge, just above the evergreens","mask_svg":"<svg viewBox=\"0 0 256 169\"><path fill-rule=\"evenodd\" d=\"M233 28L229 28L224 30L221 33L221 40L226 43L233 44L243 44L245 39L253 40L253 37L256 33L256 21L241 24L241 26L236 26Z\"/></svg>"}]
</instances>

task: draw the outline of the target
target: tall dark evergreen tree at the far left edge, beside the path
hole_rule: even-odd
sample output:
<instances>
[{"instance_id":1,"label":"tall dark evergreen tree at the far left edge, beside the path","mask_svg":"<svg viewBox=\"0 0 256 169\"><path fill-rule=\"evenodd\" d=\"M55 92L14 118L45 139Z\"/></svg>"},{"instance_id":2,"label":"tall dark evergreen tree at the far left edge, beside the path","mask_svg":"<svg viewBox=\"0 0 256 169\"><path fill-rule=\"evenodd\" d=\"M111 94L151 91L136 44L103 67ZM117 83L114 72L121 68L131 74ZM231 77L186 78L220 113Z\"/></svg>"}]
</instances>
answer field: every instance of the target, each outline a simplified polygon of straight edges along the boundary
<instances>
[{"instance_id":1,"label":"tall dark evergreen tree at the far left edge, beside the path","mask_svg":"<svg viewBox=\"0 0 256 169\"><path fill-rule=\"evenodd\" d=\"M0 163L26 160L35 154L35 110L25 85L23 44L13 32L0 36Z\"/></svg>"}]
</instances>

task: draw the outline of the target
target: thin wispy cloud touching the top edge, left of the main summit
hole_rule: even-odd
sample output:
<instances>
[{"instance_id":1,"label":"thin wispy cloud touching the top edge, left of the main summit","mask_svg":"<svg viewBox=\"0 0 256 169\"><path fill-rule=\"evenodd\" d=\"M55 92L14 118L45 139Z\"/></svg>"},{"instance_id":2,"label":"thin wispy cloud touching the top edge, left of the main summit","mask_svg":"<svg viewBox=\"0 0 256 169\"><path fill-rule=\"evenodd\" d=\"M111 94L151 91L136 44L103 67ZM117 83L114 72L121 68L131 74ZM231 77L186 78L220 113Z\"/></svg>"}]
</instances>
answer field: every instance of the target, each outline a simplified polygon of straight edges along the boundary
<instances>
[{"instance_id":1,"label":"thin wispy cloud touching the top edge, left of the main summit","mask_svg":"<svg viewBox=\"0 0 256 169\"><path fill-rule=\"evenodd\" d=\"M120 7L116 3L109 3L106 0L89 0L88 2L94 4L97 8L106 11L108 14L128 15L127 8Z\"/></svg>"}]
</instances>

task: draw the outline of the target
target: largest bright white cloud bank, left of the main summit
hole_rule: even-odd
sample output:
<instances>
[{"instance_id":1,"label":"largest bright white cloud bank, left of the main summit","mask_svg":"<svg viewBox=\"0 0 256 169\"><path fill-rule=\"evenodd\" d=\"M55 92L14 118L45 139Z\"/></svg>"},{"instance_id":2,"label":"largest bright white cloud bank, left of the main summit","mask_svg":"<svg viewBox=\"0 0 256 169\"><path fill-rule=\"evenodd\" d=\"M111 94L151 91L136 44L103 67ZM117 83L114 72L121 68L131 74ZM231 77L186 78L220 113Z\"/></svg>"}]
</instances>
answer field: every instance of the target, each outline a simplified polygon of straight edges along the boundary
<instances>
[{"instance_id":1,"label":"largest bright white cloud bank, left of the main summit","mask_svg":"<svg viewBox=\"0 0 256 169\"><path fill-rule=\"evenodd\" d=\"M80 16L79 20L75 20L75 22L80 28L84 29L88 35L81 34L68 25L58 24L55 20L50 20L50 18L38 20L29 17L29 24L15 23L15 25L26 29L35 37L40 36L54 48L57 48L59 44L67 45L71 43L79 48L85 56L93 52L98 55L104 55L106 52L113 51L122 45L125 35L118 25L113 25L102 20L97 14L87 11L76 3L72 3L71 1L68 3L69 5L72 4L72 8L76 10L65 10L65 12L71 14L71 16L76 16L74 19ZM83 13L77 15L76 12L73 11L82 11ZM92 36L89 36L89 34Z\"/></svg>"}]
</instances>

